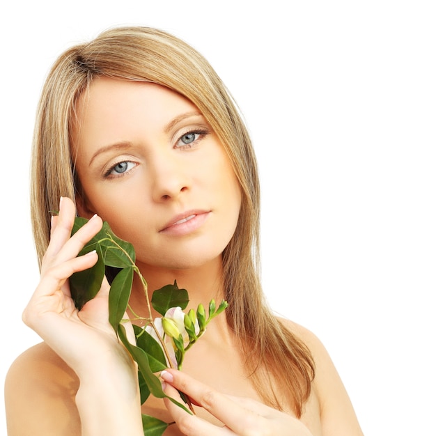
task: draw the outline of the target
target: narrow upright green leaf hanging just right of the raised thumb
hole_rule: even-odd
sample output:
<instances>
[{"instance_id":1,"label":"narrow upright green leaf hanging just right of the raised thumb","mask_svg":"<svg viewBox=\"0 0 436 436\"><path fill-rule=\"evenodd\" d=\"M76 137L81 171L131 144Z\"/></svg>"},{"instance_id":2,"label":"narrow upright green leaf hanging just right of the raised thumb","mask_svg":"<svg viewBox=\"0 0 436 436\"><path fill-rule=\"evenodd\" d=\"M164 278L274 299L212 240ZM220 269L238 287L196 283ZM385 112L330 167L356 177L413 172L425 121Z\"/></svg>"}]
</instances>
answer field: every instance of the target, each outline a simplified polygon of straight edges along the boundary
<instances>
[{"instance_id":1,"label":"narrow upright green leaf hanging just right of the raised thumb","mask_svg":"<svg viewBox=\"0 0 436 436\"><path fill-rule=\"evenodd\" d=\"M109 322L117 331L118 324L123 319L132 290L133 267L127 267L118 272L109 290Z\"/></svg>"}]
</instances>

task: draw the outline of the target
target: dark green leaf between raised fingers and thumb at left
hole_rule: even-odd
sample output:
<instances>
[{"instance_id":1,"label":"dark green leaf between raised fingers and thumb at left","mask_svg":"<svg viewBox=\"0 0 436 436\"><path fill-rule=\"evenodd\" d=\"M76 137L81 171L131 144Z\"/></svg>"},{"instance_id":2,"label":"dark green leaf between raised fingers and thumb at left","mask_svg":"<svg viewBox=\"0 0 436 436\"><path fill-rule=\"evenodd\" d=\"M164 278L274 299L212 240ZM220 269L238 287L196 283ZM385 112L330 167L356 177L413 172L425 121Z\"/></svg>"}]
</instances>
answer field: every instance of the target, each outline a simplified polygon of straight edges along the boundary
<instances>
[{"instance_id":1,"label":"dark green leaf between raised fingers and thumb at left","mask_svg":"<svg viewBox=\"0 0 436 436\"><path fill-rule=\"evenodd\" d=\"M85 247L81 251L81 255L92 251L93 247ZM102 286L104 277L104 263L100 247L96 247L98 260L93 267L88 270L75 272L70 277L71 297L75 302L77 309L81 309L86 302L93 299L97 295Z\"/></svg>"}]
</instances>

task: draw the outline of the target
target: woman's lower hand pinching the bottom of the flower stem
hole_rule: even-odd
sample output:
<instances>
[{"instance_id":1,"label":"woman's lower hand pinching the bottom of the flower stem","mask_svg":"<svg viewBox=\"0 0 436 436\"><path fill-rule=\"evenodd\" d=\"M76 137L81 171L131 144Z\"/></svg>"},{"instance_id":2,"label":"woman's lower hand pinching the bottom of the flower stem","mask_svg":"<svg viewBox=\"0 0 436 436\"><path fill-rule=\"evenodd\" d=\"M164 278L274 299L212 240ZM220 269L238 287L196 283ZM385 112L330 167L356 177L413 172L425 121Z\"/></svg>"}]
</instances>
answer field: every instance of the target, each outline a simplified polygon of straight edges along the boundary
<instances>
[{"instance_id":1,"label":"woman's lower hand pinching the bottom of the flower stem","mask_svg":"<svg viewBox=\"0 0 436 436\"><path fill-rule=\"evenodd\" d=\"M189 375L173 369L163 371L161 377L165 382L164 391L167 395L180 400L178 391L182 391L193 404L203 407L224 423L224 427L217 427L196 415L188 414L166 398L167 409L185 435L311 436L311 432L298 419L251 398L220 394Z\"/></svg>"}]
</instances>

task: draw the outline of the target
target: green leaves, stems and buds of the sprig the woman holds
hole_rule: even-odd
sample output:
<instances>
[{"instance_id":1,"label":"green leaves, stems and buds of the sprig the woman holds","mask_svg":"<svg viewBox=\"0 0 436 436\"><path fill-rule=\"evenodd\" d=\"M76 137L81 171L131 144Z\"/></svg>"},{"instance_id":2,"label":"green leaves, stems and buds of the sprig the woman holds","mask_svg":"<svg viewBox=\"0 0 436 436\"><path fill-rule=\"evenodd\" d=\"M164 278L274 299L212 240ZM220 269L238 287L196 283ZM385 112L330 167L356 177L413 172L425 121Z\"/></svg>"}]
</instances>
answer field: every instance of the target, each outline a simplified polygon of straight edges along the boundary
<instances>
[{"instance_id":1,"label":"green leaves, stems and buds of the sprig the woman holds","mask_svg":"<svg viewBox=\"0 0 436 436\"><path fill-rule=\"evenodd\" d=\"M72 228L74 235L79 228L84 226L88 220L84 218L76 218ZM162 325L165 325L165 332L159 332L155 325L150 311L150 305L160 313L163 317L169 309L180 307L185 309L189 302L189 296L186 289L180 289L176 281L171 285L166 285L161 289L155 290L151 301L148 299L147 283L141 276L141 272L135 265L135 253L132 244L121 240L111 231L107 222L103 223L100 232L92 238L88 244L81 250L79 256L95 250L98 254L98 261L88 270L76 272L70 277L70 290L72 299L81 309L86 302L97 295L102 286L104 279L104 271L106 267L115 267L119 270L118 274L111 283L109 290L109 322L118 338L125 346L127 352L130 353L134 361L138 364L138 380L141 393L141 404L146 402L151 395L157 398L169 398L173 403L182 407L188 413L189 410L185 405L166 396L162 390L162 384L156 373L171 366L170 350L174 352L177 366L182 367L182 361L185 357L185 352L198 340L205 332L208 322L212 320L218 313L226 309L227 303L221 302L216 309L215 301L212 300L209 304L209 314L206 318L205 309L200 304L196 311L191 309L189 313L184 315L183 323L185 327L181 327L176 321L171 318L162 318ZM146 327L133 325L136 341L130 343L127 339L125 330L125 311L129 307L130 293L132 291L132 283L134 274L139 275L141 283L143 283L144 297L148 306L148 316L140 317L138 320L145 321L146 326L151 327L151 332L158 339L146 331ZM179 310L179 309L177 309ZM180 311L178 312L180 314ZM183 313L182 313L183 315ZM187 337L184 340L183 335ZM168 337L166 337L168 336ZM167 348L166 339L170 338L172 345L170 350ZM187 342L186 342L187 341ZM183 400L190 406L185 395L180 393ZM144 435L161 436L169 426L168 423L160 421L153 416L142 415Z\"/></svg>"}]
</instances>

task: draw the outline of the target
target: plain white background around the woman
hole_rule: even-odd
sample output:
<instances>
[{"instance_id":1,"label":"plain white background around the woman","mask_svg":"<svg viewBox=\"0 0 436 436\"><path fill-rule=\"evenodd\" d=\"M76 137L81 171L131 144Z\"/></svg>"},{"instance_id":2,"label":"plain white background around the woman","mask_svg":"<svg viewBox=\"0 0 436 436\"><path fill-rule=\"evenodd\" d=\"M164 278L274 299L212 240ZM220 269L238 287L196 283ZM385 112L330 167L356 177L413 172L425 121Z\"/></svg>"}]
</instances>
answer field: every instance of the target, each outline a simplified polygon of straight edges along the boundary
<instances>
[{"instance_id":1,"label":"plain white background around the woman","mask_svg":"<svg viewBox=\"0 0 436 436\"><path fill-rule=\"evenodd\" d=\"M28 185L42 82L70 45L141 24L202 52L247 119L273 308L325 343L366 436L436 435L433 2L5 3L2 381L38 341L20 316L38 282Z\"/></svg>"}]
</instances>

